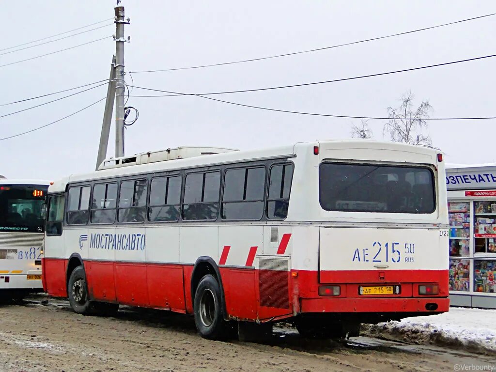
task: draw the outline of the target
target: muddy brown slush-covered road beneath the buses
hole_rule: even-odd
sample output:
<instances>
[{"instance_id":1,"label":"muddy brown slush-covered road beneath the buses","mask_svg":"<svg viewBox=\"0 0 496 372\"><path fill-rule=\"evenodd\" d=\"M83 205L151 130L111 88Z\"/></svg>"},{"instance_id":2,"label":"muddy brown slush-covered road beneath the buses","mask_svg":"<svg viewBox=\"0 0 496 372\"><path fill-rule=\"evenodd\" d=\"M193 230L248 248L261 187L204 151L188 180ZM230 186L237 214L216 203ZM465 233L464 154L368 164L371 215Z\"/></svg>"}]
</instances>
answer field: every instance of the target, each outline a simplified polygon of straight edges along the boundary
<instances>
[{"instance_id":1,"label":"muddy brown slush-covered road beneath the buses","mask_svg":"<svg viewBox=\"0 0 496 372\"><path fill-rule=\"evenodd\" d=\"M357 337L315 342L275 328L265 344L200 338L189 316L128 308L117 317L73 313L32 297L0 305L0 372L12 371L453 371L491 358Z\"/></svg>"}]
</instances>

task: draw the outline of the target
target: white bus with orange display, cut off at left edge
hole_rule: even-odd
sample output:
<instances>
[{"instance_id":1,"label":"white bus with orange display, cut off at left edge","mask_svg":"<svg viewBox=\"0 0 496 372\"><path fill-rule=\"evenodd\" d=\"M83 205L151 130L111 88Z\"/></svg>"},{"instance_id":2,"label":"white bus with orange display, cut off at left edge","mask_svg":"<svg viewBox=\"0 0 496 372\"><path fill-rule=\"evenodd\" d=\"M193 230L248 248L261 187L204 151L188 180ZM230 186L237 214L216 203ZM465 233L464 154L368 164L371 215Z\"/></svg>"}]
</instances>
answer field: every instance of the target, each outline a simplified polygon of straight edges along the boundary
<instances>
[{"instance_id":1,"label":"white bus with orange display, cut off at left edge","mask_svg":"<svg viewBox=\"0 0 496 372\"><path fill-rule=\"evenodd\" d=\"M0 298L43 291L42 205L48 186L48 181L0 179Z\"/></svg>"}]
</instances>

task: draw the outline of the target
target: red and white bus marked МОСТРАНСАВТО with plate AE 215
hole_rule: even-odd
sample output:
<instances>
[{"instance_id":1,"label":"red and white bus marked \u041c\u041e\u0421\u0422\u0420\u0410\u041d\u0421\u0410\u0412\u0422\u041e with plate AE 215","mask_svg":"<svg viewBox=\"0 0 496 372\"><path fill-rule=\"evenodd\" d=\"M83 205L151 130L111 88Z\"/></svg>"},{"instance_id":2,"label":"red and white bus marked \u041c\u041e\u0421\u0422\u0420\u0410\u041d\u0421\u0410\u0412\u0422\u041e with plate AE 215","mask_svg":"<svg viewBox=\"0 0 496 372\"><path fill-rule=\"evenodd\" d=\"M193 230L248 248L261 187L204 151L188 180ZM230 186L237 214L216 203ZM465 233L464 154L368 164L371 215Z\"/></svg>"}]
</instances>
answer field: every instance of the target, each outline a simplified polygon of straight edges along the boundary
<instances>
[{"instance_id":1,"label":"red and white bus marked \u041c\u041e\u0421\u0422\u0420\u0410\u041d\u0421\u0410\u0412\u0422\u041e with plate AE 215","mask_svg":"<svg viewBox=\"0 0 496 372\"><path fill-rule=\"evenodd\" d=\"M111 159L49 188L43 283L78 313L119 304L305 336L448 310L442 154L369 140Z\"/></svg>"}]
</instances>

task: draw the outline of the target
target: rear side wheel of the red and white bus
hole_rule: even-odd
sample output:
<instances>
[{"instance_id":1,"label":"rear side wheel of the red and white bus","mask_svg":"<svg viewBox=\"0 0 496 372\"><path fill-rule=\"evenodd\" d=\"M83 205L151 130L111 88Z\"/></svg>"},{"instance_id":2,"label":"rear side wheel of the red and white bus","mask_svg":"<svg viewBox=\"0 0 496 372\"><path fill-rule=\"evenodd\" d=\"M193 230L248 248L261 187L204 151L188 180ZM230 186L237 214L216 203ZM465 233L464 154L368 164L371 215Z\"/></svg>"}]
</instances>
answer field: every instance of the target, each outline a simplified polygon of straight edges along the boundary
<instances>
[{"instance_id":1,"label":"rear side wheel of the red and white bus","mask_svg":"<svg viewBox=\"0 0 496 372\"><path fill-rule=\"evenodd\" d=\"M212 275L201 278L194 293L194 322L200 336L209 340L227 337L228 324L222 311L221 291Z\"/></svg>"}]
</instances>

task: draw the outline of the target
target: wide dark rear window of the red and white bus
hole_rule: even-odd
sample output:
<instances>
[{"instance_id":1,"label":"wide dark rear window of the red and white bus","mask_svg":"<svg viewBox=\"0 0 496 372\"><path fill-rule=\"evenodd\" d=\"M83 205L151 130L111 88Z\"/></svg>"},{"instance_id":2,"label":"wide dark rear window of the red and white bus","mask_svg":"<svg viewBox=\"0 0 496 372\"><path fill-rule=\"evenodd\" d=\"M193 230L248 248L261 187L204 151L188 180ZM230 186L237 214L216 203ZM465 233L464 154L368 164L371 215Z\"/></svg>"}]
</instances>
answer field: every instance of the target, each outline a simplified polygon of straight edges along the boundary
<instances>
[{"instance_id":1,"label":"wide dark rear window of the red and white bus","mask_svg":"<svg viewBox=\"0 0 496 372\"><path fill-rule=\"evenodd\" d=\"M323 209L343 212L432 213L434 174L425 167L322 163Z\"/></svg>"}]
</instances>

